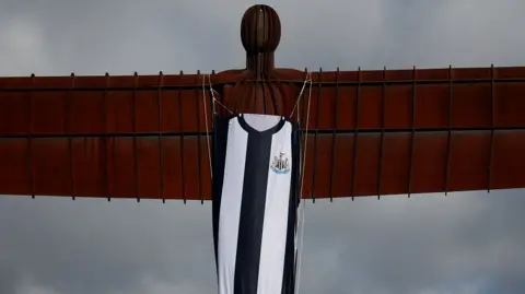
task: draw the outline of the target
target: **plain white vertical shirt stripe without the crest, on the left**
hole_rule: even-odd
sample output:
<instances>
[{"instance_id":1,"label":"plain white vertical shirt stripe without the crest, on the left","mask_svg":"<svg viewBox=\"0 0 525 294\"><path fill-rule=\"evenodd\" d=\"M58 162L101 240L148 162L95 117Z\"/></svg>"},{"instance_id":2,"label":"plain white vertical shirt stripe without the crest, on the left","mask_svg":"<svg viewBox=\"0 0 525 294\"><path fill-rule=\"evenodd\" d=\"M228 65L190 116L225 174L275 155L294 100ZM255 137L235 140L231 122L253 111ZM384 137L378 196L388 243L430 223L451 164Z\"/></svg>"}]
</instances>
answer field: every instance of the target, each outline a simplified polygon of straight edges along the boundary
<instances>
[{"instance_id":1,"label":"plain white vertical shirt stripe without the crest, on the left","mask_svg":"<svg viewBox=\"0 0 525 294\"><path fill-rule=\"evenodd\" d=\"M218 268L221 279L219 281L219 294L233 294L234 290L247 145L248 133L238 125L237 118L232 118L228 131L224 180L219 215Z\"/></svg>"}]
</instances>

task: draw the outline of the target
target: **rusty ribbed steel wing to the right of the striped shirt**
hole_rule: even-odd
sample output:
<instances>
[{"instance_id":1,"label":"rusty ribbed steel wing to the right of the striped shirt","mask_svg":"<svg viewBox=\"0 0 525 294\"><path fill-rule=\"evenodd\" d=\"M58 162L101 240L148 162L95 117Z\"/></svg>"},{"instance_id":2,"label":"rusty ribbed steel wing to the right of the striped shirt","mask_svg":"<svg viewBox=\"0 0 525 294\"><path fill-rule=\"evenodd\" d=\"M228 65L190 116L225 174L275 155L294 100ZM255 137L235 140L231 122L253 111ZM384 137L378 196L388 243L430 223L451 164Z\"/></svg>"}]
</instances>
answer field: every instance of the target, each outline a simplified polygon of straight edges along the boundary
<instances>
[{"instance_id":1,"label":"rusty ribbed steel wing to the right of the striped shirt","mask_svg":"<svg viewBox=\"0 0 525 294\"><path fill-rule=\"evenodd\" d=\"M525 187L525 69L313 78L303 197Z\"/></svg>"}]
</instances>

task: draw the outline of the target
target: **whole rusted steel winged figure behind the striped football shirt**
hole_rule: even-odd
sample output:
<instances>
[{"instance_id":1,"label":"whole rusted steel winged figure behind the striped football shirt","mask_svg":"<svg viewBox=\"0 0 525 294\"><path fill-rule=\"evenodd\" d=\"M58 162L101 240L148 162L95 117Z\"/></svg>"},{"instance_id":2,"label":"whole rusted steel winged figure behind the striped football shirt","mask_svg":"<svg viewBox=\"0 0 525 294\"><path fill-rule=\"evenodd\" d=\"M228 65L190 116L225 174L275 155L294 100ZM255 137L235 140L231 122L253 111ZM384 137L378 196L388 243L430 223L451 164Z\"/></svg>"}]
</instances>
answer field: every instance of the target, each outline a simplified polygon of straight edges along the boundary
<instances>
[{"instance_id":1,"label":"whole rusted steel winged figure behind the striped football shirt","mask_svg":"<svg viewBox=\"0 0 525 294\"><path fill-rule=\"evenodd\" d=\"M306 72L275 68L277 13L248 9L241 35L246 69L212 73L217 98L234 113L290 114ZM1 78L0 193L210 199L205 78ZM303 198L525 187L525 68L312 79Z\"/></svg>"}]
</instances>

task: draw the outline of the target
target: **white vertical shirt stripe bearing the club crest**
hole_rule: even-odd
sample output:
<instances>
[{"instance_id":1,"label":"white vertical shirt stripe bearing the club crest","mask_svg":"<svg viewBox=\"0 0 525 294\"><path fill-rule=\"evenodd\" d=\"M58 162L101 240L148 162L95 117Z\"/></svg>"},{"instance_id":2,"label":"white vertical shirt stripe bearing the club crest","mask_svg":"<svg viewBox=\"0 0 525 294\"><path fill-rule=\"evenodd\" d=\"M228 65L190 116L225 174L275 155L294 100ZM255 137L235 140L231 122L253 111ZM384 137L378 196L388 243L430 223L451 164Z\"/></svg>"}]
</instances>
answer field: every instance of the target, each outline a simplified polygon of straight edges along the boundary
<instances>
[{"instance_id":1,"label":"white vertical shirt stripe bearing the club crest","mask_svg":"<svg viewBox=\"0 0 525 294\"><path fill-rule=\"evenodd\" d=\"M282 291L291 169L295 168L292 166L291 132L291 125L287 121L282 129L273 134L271 141L268 168L273 156L279 156L281 152L284 153L291 168L287 174L278 174L270 168L268 174L257 294L276 294Z\"/></svg>"}]
</instances>

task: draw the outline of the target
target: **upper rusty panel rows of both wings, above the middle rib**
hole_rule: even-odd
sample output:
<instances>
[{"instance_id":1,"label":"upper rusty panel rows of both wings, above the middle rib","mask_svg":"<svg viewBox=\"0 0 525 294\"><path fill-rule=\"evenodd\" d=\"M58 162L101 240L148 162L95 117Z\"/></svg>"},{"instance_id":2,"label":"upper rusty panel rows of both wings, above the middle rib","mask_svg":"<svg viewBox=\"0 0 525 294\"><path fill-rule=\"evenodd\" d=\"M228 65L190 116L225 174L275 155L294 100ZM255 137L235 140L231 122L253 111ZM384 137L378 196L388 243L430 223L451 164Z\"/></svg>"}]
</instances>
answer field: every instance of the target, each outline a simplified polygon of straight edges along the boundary
<instances>
[{"instance_id":1,"label":"upper rusty panel rows of both wings, above the middle rib","mask_svg":"<svg viewBox=\"0 0 525 294\"><path fill-rule=\"evenodd\" d=\"M303 84L304 73L293 77L289 82ZM133 132L133 126L135 132L151 134L205 132L202 78L0 78L0 136L118 134ZM525 127L525 68L314 72L312 78L310 129ZM223 89L236 75L211 79ZM288 93L296 97L299 87ZM205 94L210 108L208 89ZM303 96L302 114L306 102Z\"/></svg>"}]
</instances>

